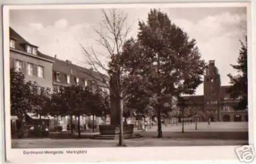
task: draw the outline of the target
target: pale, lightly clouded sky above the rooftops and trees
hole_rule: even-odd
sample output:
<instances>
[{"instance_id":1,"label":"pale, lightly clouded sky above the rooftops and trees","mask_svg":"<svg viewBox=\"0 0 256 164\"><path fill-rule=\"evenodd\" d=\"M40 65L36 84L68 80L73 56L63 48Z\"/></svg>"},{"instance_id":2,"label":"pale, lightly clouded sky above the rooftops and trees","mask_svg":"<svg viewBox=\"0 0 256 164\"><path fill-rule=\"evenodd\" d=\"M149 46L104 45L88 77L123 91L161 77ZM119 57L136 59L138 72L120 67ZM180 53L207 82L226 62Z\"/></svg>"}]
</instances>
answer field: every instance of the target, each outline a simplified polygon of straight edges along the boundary
<instances>
[{"instance_id":1,"label":"pale, lightly clouded sky above the rooftops and trees","mask_svg":"<svg viewBox=\"0 0 256 164\"><path fill-rule=\"evenodd\" d=\"M136 36L138 21L146 21L150 8L122 8L127 13L126 24L131 26L130 36ZM170 20L180 26L190 37L197 40L202 59L215 60L222 85L229 85L227 74L237 74L230 64L236 64L241 44L246 35L245 7L215 8L162 8ZM108 10L106 10L108 12ZM87 50L101 54L97 44L102 21L102 9L40 9L10 10L10 27L38 50L58 59L70 60L85 67L89 60L82 52L81 43ZM99 59L106 63L102 55ZM201 84L196 95L203 95Z\"/></svg>"}]
</instances>

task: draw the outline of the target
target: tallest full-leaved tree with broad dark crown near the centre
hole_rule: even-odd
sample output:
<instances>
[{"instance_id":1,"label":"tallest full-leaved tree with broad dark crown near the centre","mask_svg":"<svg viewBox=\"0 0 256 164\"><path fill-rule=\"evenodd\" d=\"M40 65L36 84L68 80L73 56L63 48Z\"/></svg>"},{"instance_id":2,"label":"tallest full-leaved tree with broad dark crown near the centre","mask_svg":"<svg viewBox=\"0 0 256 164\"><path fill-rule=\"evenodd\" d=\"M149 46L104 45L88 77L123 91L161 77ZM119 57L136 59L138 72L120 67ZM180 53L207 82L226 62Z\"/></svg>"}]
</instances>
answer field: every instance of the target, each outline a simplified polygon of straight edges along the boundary
<instances>
[{"instance_id":1,"label":"tallest full-leaved tree with broad dark crown near the centre","mask_svg":"<svg viewBox=\"0 0 256 164\"><path fill-rule=\"evenodd\" d=\"M156 100L154 107L157 110L158 137L162 137L163 104L172 102L173 97L193 94L202 83L205 62L201 59L196 40L189 39L160 10L151 10L146 22L139 21L137 37L133 45L137 44L139 51L126 53L127 58L129 56L129 64L126 65L132 69L139 61L144 60L143 67L136 75L144 81L145 85L142 86Z\"/></svg>"}]
</instances>

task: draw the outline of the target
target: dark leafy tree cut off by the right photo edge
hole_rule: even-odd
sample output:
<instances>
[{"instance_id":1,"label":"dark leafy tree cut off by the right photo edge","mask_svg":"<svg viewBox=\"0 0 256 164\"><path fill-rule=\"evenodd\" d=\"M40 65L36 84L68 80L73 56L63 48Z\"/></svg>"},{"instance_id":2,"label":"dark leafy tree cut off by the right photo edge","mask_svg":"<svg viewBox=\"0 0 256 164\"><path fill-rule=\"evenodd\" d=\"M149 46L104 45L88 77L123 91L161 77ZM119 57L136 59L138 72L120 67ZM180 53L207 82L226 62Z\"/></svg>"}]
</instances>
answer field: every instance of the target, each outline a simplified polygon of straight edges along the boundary
<instances>
[{"instance_id":1,"label":"dark leafy tree cut off by the right photo edge","mask_svg":"<svg viewBox=\"0 0 256 164\"><path fill-rule=\"evenodd\" d=\"M240 98L240 102L234 107L236 110L244 110L248 105L248 79L247 79L247 37L245 41L240 41L241 48L237 65L231 66L237 70L238 75L228 74L231 81L231 87L228 89L231 98Z\"/></svg>"}]
</instances>

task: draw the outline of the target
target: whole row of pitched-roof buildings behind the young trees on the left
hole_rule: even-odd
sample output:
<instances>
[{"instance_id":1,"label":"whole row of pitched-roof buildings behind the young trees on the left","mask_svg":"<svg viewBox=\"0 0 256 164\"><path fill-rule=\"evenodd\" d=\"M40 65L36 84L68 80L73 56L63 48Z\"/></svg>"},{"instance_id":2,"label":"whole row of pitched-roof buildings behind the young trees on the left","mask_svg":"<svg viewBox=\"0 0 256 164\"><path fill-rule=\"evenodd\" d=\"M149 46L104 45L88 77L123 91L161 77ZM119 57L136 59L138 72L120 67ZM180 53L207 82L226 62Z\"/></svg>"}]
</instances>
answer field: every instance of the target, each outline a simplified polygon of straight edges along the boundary
<instances>
[{"instance_id":1,"label":"whole row of pitched-roof buildings behind the young trees on the left","mask_svg":"<svg viewBox=\"0 0 256 164\"><path fill-rule=\"evenodd\" d=\"M26 81L36 82L38 87L51 88L56 91L60 86L82 85L89 86L92 90L102 89L109 93L107 85L102 81L105 75L99 75L93 69L84 68L73 64L71 61L60 60L42 54L38 51L38 46L26 41L22 36L9 28L10 32L10 68L21 71L25 75ZM103 77L104 76L104 77ZM31 119L36 117L28 113ZM73 117L73 123L77 123L77 118ZM91 117L81 116L81 125L86 124ZM95 118L96 122L101 122ZM60 125L62 130L67 130L71 118L68 116L58 117L50 121L50 124Z\"/></svg>"}]
</instances>

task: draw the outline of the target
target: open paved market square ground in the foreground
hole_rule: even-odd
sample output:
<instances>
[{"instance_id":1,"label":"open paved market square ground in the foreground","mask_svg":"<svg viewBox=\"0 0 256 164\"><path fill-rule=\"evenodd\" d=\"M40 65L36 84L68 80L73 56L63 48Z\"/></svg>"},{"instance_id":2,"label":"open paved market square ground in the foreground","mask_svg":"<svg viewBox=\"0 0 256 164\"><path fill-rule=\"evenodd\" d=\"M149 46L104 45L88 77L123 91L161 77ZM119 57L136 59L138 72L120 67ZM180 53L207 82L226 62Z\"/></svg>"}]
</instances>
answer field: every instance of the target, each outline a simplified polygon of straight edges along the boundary
<instances>
[{"instance_id":1,"label":"open paved market square ground in the foreground","mask_svg":"<svg viewBox=\"0 0 256 164\"><path fill-rule=\"evenodd\" d=\"M248 144L247 123L199 123L198 130L195 124L186 124L185 133L181 133L181 125L163 126L163 137L157 138L157 128L147 131L136 131L143 137L125 139L128 147L152 146L227 146ZM52 138L24 138L12 139L13 148L70 148L70 147L116 147L118 140L89 139L97 133L82 133L83 138L71 136L68 139ZM55 136L56 136L55 135ZM72 137L72 138L70 138ZM54 139L55 138L55 139Z\"/></svg>"}]
</instances>

